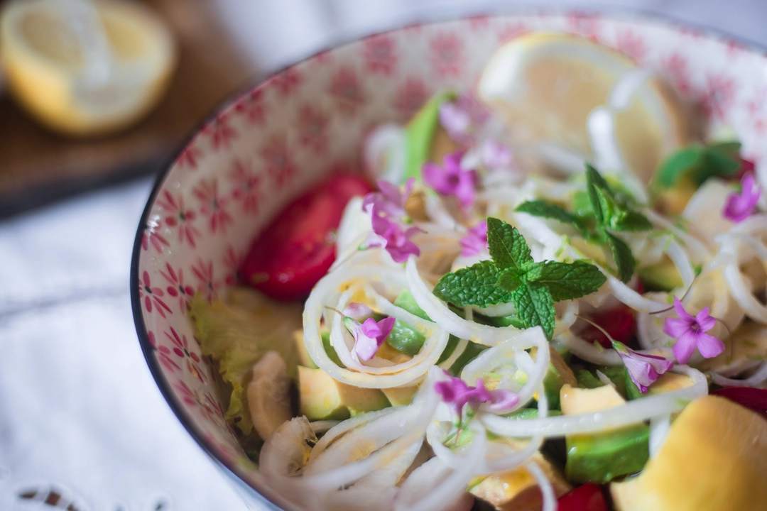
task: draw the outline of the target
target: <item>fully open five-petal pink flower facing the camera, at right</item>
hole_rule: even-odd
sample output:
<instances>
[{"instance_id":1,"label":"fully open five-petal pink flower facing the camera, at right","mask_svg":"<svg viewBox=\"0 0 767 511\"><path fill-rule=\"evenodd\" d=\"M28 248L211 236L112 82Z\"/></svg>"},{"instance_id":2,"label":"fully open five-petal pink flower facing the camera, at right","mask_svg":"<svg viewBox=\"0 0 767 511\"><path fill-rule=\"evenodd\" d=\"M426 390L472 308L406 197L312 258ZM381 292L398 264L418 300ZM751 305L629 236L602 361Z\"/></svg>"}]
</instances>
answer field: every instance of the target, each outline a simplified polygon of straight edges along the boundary
<instances>
[{"instance_id":1,"label":"fully open five-petal pink flower facing the camera, at right","mask_svg":"<svg viewBox=\"0 0 767 511\"><path fill-rule=\"evenodd\" d=\"M705 359L713 359L724 351L724 342L706 333L716 325L716 319L709 316L708 307L701 310L697 316L691 316L684 310L682 303L676 296L673 299L673 307L679 319L667 318L663 332L677 339L673 347L676 362L686 364L693 355L696 346Z\"/></svg>"}]
</instances>

